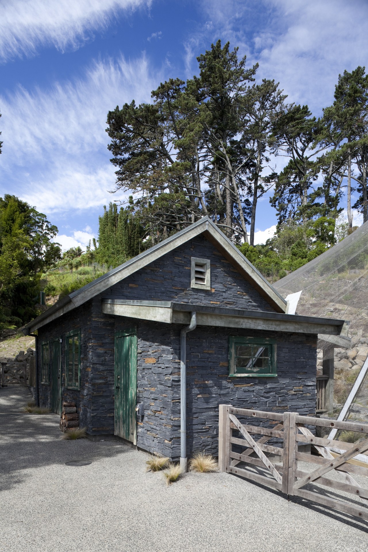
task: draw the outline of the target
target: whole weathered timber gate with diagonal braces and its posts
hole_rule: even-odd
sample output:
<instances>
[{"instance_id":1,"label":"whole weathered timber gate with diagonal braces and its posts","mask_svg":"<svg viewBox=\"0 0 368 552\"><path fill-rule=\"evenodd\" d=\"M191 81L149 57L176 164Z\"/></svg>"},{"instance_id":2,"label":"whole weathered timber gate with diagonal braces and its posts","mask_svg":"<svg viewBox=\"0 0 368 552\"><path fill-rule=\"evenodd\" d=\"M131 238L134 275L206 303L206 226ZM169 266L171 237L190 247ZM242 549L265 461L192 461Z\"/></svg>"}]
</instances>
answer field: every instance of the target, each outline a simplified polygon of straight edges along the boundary
<instances>
[{"instance_id":1,"label":"whole weathered timber gate with diagonal braces and its posts","mask_svg":"<svg viewBox=\"0 0 368 552\"><path fill-rule=\"evenodd\" d=\"M244 423L238 418L247 418L247 421ZM260 423L263 425L258 425ZM269 427L264 427L265 425ZM363 463L353 460L357 454L368 450L368 439L365 438L356 443L345 443L315 437L306 426L346 429L368 434L368 424L299 416L296 412L279 414L220 405L219 468L221 471L275 487L287 495L307 498L324 506L368 520L368 490L361 487L350 475L368 476L368 468L364 467ZM233 432L238 435L233 435ZM255 440L254 436L259 437ZM272 444L266 444L270 439L272 439ZM300 452L298 443L314 445L320 456ZM237 451L233 450L233 445L236 445ZM334 454L330 452L330 447L338 447L345 452ZM270 457L270 454L273 457ZM308 471L305 465L302 466L303 469L298 469L298 461L306 463L306 466L311 466L312 470ZM239 464L244 466L239 466ZM337 476L334 475L334 479L328 479L326 475L329 472L337 474ZM302 489L308 484L312 484L310 489ZM351 493L355 497L360 497L363 503L359 505L356 500L344 502L337 498L331 498L323 494L325 491L319 485L329 487L334 491ZM345 496L342 498L349 500Z\"/></svg>"}]
</instances>

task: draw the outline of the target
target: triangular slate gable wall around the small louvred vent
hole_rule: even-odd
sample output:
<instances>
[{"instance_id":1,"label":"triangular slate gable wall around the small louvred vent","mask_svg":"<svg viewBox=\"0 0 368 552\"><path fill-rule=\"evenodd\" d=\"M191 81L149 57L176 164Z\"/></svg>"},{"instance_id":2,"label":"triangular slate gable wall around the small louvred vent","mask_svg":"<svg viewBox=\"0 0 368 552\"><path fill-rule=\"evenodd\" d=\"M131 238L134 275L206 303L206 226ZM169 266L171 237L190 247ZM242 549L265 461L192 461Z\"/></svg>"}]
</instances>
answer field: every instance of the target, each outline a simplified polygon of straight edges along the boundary
<instances>
[{"instance_id":1,"label":"triangular slate gable wall around the small louvred vent","mask_svg":"<svg viewBox=\"0 0 368 552\"><path fill-rule=\"evenodd\" d=\"M211 290L190 288L190 258L211 262ZM184 243L104 291L104 298L176 301L273 312L274 309L203 236Z\"/></svg>"}]
</instances>

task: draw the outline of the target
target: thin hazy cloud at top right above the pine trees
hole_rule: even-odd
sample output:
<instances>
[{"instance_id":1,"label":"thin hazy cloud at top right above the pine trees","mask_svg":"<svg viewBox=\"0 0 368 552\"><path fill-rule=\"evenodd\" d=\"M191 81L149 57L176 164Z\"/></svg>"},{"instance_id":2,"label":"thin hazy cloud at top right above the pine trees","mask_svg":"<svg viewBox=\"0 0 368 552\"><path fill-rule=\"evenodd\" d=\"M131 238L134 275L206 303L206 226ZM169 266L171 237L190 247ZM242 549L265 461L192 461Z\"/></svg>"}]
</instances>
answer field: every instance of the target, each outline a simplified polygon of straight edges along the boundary
<instances>
[{"instance_id":1,"label":"thin hazy cloud at top right above the pine trees","mask_svg":"<svg viewBox=\"0 0 368 552\"><path fill-rule=\"evenodd\" d=\"M188 40L221 38L239 46L258 77L274 78L289 101L308 104L318 115L333 102L339 73L366 65L368 3L362 0L204 0L210 19ZM192 59L193 65L196 64Z\"/></svg>"}]
</instances>

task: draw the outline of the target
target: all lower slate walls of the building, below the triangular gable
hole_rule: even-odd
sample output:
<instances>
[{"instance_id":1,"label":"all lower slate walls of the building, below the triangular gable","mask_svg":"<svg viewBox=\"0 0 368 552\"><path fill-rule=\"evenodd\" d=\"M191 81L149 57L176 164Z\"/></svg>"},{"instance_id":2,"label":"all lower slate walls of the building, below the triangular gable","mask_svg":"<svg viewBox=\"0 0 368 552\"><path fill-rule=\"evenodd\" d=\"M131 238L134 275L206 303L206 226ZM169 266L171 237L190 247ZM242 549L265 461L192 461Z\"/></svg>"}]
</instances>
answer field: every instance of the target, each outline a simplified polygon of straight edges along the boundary
<instances>
[{"instance_id":1,"label":"all lower slate walls of the building, below the triangular gable","mask_svg":"<svg viewBox=\"0 0 368 552\"><path fill-rule=\"evenodd\" d=\"M145 411L137 419L137 445L177 460L182 326L103 315L95 298L40 328L39 343L63 338L62 399L76 402L89 434L113 434L114 334L131 326L137 328L137 402ZM65 335L74 328L81 330L80 391L65 387ZM229 378L229 336L275 338L278 376ZM188 455L196 450L217 455L219 404L303 415L315 411L317 336L199 326L187 335L186 355ZM41 406L50 406L50 386L39 380L39 390Z\"/></svg>"}]
</instances>

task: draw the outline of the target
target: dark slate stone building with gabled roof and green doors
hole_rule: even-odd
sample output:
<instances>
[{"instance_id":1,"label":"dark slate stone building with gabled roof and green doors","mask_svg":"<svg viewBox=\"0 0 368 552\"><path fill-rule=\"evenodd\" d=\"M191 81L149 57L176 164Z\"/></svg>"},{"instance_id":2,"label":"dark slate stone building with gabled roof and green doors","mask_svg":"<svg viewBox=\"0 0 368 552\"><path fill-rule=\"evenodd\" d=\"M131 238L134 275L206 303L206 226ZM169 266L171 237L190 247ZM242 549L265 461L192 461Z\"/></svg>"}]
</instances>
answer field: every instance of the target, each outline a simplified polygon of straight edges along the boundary
<instances>
[{"instance_id":1,"label":"dark slate stone building with gabled roof and green doors","mask_svg":"<svg viewBox=\"0 0 368 552\"><path fill-rule=\"evenodd\" d=\"M217 454L218 405L315 412L317 336L208 217L58 301L38 331L38 400L88 436L173 460Z\"/></svg>"}]
</instances>

